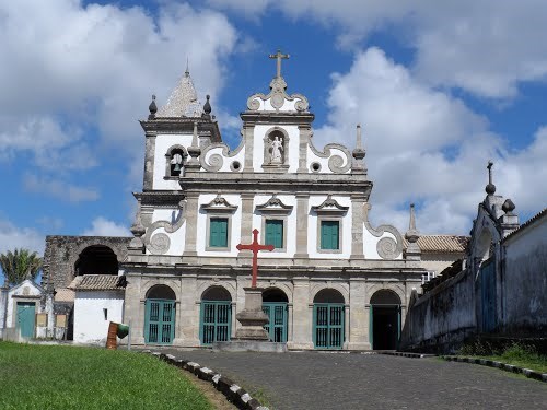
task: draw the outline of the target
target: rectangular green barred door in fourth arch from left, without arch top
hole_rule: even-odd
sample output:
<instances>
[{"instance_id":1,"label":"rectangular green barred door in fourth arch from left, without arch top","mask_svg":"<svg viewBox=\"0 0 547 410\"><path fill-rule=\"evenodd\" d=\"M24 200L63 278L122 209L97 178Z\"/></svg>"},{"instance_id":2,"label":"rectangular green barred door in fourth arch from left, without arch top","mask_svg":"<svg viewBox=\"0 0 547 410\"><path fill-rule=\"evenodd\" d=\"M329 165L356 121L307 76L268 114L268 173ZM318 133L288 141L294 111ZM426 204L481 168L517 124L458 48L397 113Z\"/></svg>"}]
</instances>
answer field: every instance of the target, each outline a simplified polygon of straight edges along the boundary
<instances>
[{"instance_id":1,"label":"rectangular green barred door in fourth arch from left, without arch top","mask_svg":"<svg viewBox=\"0 0 547 410\"><path fill-rule=\"evenodd\" d=\"M342 348L342 303L315 303L313 305L313 344L315 349Z\"/></svg>"}]
</instances>

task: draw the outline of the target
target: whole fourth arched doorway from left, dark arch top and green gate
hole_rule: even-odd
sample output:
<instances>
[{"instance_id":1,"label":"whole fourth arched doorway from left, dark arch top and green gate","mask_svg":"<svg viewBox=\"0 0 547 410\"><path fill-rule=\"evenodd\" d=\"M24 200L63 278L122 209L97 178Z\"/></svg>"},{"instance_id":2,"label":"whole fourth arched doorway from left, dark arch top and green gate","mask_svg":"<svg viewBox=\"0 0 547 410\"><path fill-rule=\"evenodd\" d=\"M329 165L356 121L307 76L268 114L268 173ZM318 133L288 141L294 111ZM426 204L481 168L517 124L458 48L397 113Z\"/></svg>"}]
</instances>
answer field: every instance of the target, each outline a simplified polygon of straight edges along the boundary
<instances>
[{"instance_id":1,"label":"whole fourth arched doorway from left, dark arch top and green gate","mask_svg":"<svg viewBox=\"0 0 547 410\"><path fill-rule=\"evenodd\" d=\"M319 291L313 300L313 344L315 349L344 345L344 296L335 289Z\"/></svg>"}]
</instances>

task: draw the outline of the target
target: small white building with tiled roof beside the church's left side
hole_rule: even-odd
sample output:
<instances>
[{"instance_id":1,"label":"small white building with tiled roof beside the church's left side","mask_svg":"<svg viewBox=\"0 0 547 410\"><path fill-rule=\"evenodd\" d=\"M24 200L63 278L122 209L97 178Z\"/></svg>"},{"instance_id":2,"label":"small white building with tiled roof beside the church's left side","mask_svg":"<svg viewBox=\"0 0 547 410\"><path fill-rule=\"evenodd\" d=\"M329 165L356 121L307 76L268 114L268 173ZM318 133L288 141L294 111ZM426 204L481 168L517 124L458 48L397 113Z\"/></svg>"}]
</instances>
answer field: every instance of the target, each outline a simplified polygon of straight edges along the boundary
<instances>
[{"instance_id":1,"label":"small white building with tiled roof beside the church's left side","mask_svg":"<svg viewBox=\"0 0 547 410\"><path fill-rule=\"evenodd\" d=\"M124 286L120 283L120 277L112 274L84 274L72 281L75 343L104 344L109 323L123 321Z\"/></svg>"}]
</instances>

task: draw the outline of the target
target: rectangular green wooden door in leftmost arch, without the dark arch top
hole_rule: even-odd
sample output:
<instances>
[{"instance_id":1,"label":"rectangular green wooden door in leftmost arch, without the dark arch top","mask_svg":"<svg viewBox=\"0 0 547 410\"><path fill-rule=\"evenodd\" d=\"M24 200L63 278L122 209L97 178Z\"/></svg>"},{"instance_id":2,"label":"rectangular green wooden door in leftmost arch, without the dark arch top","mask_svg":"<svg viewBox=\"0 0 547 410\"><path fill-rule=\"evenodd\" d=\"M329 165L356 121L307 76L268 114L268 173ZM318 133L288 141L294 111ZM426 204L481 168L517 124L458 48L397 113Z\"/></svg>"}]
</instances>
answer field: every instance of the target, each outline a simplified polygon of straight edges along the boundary
<instances>
[{"instance_id":1,"label":"rectangular green wooden door in leftmost arch, without the dark arch top","mask_svg":"<svg viewBox=\"0 0 547 410\"><path fill-rule=\"evenodd\" d=\"M175 301L148 298L144 315L144 342L172 344L175 338Z\"/></svg>"}]
</instances>

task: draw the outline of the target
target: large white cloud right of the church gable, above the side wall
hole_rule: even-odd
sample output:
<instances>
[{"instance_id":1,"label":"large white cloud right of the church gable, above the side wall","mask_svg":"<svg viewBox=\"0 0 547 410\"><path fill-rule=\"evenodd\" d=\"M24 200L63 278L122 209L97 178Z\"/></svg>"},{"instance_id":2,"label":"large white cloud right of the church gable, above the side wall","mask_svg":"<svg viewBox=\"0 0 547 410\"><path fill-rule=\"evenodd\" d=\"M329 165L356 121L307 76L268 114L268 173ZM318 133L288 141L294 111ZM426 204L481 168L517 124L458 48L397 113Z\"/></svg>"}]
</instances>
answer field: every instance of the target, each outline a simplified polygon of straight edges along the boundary
<instances>
[{"instance_id":1,"label":"large white cloud right of the church gable, above the side wall","mask_svg":"<svg viewBox=\"0 0 547 410\"><path fill-rule=\"evenodd\" d=\"M329 124L315 131L315 144L337 141L351 149L354 125L363 124L374 223L405 232L408 203L416 201L420 231L467 233L485 197L488 160L496 163L498 194L511 197L519 211L545 207L547 128L526 149L510 151L485 118L377 48L357 54L349 72L333 80Z\"/></svg>"}]
</instances>

